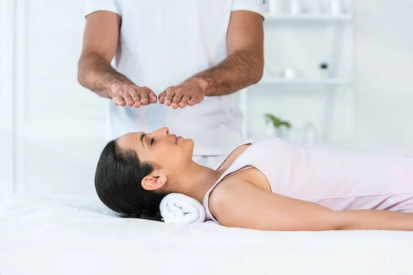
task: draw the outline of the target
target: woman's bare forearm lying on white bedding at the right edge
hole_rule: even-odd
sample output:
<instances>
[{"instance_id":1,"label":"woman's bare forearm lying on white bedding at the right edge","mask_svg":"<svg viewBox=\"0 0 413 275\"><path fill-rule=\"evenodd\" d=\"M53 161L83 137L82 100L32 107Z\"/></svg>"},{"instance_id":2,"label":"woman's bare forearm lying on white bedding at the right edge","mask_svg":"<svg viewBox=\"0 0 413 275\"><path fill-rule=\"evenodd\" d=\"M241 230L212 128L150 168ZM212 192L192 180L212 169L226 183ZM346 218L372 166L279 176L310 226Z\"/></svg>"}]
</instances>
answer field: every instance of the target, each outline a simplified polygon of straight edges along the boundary
<instances>
[{"instance_id":1,"label":"woman's bare forearm lying on white bedding at the right edge","mask_svg":"<svg viewBox=\"0 0 413 275\"><path fill-rule=\"evenodd\" d=\"M413 231L413 213L385 210L343 211L343 230Z\"/></svg>"}]
</instances>

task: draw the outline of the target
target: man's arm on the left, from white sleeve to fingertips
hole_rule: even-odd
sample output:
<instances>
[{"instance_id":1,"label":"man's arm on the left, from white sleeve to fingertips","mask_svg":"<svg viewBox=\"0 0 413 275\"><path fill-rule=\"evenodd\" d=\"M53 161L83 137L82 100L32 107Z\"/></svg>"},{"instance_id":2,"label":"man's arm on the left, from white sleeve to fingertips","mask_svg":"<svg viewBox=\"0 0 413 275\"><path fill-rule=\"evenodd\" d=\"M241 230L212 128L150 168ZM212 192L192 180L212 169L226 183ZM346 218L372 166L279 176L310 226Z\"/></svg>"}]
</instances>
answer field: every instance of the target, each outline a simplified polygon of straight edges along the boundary
<instances>
[{"instance_id":1,"label":"man's arm on the left, from white sleeve to fingertips","mask_svg":"<svg viewBox=\"0 0 413 275\"><path fill-rule=\"evenodd\" d=\"M98 96L112 98L118 106L155 103L153 91L136 86L110 65L118 45L119 28L120 16L114 12L98 11L87 16L78 82Z\"/></svg>"}]
</instances>

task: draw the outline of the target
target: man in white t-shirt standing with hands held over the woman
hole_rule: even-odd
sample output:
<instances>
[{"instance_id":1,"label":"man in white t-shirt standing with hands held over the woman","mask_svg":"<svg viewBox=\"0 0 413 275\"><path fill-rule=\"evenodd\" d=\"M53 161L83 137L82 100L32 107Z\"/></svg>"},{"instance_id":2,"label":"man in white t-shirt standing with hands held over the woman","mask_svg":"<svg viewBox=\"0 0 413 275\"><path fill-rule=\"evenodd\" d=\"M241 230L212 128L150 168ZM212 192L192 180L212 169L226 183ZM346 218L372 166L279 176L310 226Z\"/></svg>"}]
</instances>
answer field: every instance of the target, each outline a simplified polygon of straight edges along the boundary
<instances>
[{"instance_id":1,"label":"man in white t-shirt standing with hands held over the woman","mask_svg":"<svg viewBox=\"0 0 413 275\"><path fill-rule=\"evenodd\" d=\"M262 78L262 14L262 0L87 0L78 81L112 99L108 138L168 126L215 166L243 139L235 92Z\"/></svg>"}]
</instances>

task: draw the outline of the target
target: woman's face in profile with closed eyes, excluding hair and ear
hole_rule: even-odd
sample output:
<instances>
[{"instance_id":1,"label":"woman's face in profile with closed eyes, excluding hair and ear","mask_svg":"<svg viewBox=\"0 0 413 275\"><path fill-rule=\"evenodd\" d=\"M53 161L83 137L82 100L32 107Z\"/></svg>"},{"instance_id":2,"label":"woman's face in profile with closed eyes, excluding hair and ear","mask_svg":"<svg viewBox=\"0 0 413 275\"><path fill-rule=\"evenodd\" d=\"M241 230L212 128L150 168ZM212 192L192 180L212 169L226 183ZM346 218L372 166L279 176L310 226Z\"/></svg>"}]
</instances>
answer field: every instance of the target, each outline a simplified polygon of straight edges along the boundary
<instances>
[{"instance_id":1,"label":"woman's face in profile with closed eyes, excluding hair and ear","mask_svg":"<svg viewBox=\"0 0 413 275\"><path fill-rule=\"evenodd\" d=\"M136 151L140 162L151 162L165 175L179 173L192 160L193 141L171 135L168 128L153 133L127 133L118 138L118 146Z\"/></svg>"}]
</instances>

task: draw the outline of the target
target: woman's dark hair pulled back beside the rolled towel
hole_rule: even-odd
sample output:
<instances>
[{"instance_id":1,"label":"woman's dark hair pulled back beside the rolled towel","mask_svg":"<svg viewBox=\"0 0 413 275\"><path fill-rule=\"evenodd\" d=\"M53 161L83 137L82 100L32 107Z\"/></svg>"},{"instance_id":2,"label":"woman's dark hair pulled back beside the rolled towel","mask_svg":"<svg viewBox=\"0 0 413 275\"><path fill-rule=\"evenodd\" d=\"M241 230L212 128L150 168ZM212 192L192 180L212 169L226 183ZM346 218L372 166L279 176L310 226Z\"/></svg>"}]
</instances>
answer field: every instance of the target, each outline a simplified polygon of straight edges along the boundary
<instances>
[{"instance_id":1,"label":"woman's dark hair pulled back beside the rolled towel","mask_svg":"<svg viewBox=\"0 0 413 275\"><path fill-rule=\"evenodd\" d=\"M120 148L112 140L103 149L96 167L95 188L100 201L123 217L161 221L159 204L165 195L141 185L153 170L153 164L140 162L136 151Z\"/></svg>"}]
</instances>

